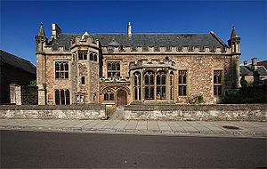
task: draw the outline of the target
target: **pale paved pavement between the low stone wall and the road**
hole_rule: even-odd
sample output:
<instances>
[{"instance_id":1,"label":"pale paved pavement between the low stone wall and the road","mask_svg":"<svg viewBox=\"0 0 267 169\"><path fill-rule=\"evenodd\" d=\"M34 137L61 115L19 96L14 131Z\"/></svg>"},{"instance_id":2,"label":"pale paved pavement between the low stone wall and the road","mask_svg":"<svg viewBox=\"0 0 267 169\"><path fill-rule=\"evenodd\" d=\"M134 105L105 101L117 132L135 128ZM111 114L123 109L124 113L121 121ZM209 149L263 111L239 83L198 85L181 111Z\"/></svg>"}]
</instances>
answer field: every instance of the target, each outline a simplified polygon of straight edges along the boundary
<instances>
[{"instance_id":1,"label":"pale paved pavement between the low stone wall and the road","mask_svg":"<svg viewBox=\"0 0 267 169\"><path fill-rule=\"evenodd\" d=\"M0 119L0 130L267 138L267 122Z\"/></svg>"}]
</instances>

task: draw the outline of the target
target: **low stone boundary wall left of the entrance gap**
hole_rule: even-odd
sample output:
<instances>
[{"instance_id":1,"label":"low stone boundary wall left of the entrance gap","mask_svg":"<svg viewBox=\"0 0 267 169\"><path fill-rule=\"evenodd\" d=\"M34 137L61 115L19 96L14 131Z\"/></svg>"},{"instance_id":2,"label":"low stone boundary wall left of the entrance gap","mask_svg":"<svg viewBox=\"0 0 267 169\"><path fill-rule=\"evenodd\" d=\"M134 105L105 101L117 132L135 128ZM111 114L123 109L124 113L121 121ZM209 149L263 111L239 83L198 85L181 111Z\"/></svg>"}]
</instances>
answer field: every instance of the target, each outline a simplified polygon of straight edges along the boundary
<instances>
[{"instance_id":1,"label":"low stone boundary wall left of the entrance gap","mask_svg":"<svg viewBox=\"0 0 267 169\"><path fill-rule=\"evenodd\" d=\"M107 119L106 107L85 105L0 105L0 118L26 119Z\"/></svg>"}]
</instances>

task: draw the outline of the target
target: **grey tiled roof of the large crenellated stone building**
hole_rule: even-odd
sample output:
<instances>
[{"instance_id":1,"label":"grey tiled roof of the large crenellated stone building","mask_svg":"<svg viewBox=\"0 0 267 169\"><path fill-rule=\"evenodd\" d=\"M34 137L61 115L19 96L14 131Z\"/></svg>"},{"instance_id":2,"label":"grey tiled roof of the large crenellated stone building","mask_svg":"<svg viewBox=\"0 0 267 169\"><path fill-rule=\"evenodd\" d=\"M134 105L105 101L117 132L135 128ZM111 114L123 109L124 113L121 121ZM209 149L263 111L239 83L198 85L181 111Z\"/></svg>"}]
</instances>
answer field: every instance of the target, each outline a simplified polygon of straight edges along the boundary
<instances>
[{"instance_id":1,"label":"grey tiled roof of the large crenellated stone building","mask_svg":"<svg viewBox=\"0 0 267 169\"><path fill-rule=\"evenodd\" d=\"M61 34L53 40L53 46L70 47L70 42L77 34ZM115 41L123 46L208 46L224 47L222 40L212 34L90 34L99 39L101 46L108 46Z\"/></svg>"}]
</instances>

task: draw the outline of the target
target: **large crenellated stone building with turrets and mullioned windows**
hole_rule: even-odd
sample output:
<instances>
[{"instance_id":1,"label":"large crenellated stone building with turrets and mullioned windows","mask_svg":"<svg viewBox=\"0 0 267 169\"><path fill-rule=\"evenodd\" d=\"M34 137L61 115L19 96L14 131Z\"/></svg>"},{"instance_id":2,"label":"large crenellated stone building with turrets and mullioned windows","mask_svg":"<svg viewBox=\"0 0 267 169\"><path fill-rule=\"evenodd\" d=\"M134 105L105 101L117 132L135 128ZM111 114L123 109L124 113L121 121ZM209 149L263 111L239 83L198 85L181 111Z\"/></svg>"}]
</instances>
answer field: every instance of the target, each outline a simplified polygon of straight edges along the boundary
<instances>
[{"instance_id":1,"label":"large crenellated stone building with turrets and mullioned windows","mask_svg":"<svg viewBox=\"0 0 267 169\"><path fill-rule=\"evenodd\" d=\"M223 100L239 88L240 37L207 34L36 35L39 104L187 103Z\"/></svg>"}]
</instances>

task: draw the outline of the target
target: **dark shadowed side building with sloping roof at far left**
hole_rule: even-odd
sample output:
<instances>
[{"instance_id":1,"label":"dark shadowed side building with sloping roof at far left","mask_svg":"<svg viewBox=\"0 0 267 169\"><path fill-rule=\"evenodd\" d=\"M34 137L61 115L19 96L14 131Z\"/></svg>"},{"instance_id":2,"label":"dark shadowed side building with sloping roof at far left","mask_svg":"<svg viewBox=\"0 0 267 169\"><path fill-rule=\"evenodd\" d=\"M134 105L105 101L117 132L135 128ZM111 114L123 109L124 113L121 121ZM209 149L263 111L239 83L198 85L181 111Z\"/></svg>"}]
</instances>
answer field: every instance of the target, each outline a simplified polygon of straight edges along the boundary
<instances>
[{"instance_id":1,"label":"dark shadowed side building with sloping roof at far left","mask_svg":"<svg viewBox=\"0 0 267 169\"><path fill-rule=\"evenodd\" d=\"M28 85L36 80L36 66L9 52L0 50L0 104L10 103L9 84Z\"/></svg>"}]
</instances>

